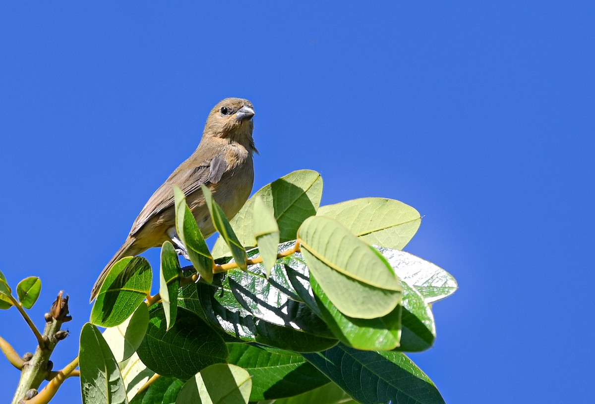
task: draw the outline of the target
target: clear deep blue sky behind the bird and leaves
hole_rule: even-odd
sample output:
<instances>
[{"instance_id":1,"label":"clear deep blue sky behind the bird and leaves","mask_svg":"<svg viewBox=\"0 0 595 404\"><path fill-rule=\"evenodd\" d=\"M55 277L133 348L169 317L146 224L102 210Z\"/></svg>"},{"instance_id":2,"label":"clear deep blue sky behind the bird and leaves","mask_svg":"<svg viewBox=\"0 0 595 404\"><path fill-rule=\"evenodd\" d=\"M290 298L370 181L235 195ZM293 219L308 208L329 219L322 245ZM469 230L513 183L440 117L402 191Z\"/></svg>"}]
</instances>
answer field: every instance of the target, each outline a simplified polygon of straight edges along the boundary
<instances>
[{"instance_id":1,"label":"clear deep blue sky behind the bird and leaves","mask_svg":"<svg viewBox=\"0 0 595 404\"><path fill-rule=\"evenodd\" d=\"M0 269L42 277L39 326L70 295L55 367L143 204L233 96L256 109L254 190L309 168L323 204L424 215L406 250L460 289L411 356L447 402L589 401L593 3L212 4L0 5ZM35 348L14 309L0 335ZM7 402L18 373L0 359L0 375ZM79 400L67 381L57 402Z\"/></svg>"}]
</instances>

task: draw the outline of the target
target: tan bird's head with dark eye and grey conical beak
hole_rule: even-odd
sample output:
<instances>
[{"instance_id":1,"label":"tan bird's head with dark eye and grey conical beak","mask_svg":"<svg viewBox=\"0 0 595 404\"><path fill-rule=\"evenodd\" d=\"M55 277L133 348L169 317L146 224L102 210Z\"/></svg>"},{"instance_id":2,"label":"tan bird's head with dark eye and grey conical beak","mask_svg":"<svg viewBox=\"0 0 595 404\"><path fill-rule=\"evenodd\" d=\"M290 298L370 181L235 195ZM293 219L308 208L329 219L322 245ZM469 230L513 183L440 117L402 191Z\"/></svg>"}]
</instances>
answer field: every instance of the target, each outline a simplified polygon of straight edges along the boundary
<instances>
[{"instance_id":1,"label":"tan bird's head with dark eye and grey conical beak","mask_svg":"<svg viewBox=\"0 0 595 404\"><path fill-rule=\"evenodd\" d=\"M206 119L204 136L226 138L253 147L254 106L242 98L226 98L215 105Z\"/></svg>"}]
</instances>

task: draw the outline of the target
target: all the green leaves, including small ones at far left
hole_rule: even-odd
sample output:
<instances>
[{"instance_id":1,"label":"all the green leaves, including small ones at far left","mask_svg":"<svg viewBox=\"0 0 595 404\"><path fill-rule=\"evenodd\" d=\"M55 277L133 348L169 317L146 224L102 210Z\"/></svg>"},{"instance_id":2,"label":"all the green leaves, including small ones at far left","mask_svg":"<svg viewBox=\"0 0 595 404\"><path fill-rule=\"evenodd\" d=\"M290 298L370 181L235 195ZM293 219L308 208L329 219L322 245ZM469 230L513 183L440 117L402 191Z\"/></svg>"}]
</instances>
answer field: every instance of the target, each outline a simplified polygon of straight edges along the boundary
<instances>
[{"instance_id":1,"label":"all the green leaves, including small ones at far left","mask_svg":"<svg viewBox=\"0 0 595 404\"><path fill-rule=\"evenodd\" d=\"M400 251L417 210L384 198L320 207L322 179L308 170L265 186L231 220L203 192L220 237L209 251L175 189L192 266L165 242L158 295L144 258L112 267L81 334L83 402L443 403L403 353L433 345L431 304L457 288ZM24 307L39 288L19 284ZM0 273L0 308L14 305L10 293Z\"/></svg>"}]
</instances>

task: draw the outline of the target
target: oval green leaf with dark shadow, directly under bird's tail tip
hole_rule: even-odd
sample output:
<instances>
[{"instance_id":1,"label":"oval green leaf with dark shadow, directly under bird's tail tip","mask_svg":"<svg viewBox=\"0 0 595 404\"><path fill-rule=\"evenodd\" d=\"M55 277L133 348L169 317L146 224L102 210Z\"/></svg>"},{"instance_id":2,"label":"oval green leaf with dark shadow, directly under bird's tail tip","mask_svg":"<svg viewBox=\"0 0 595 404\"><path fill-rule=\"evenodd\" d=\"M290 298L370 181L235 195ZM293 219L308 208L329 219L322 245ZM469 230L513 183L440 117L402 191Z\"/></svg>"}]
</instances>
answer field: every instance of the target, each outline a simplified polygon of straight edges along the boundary
<instances>
[{"instance_id":1,"label":"oval green leaf with dark shadow, directly under bird's tail tip","mask_svg":"<svg viewBox=\"0 0 595 404\"><path fill-rule=\"evenodd\" d=\"M126 257L114 264L91 310L91 323L115 327L130 317L151 292L151 265L143 257Z\"/></svg>"}]
</instances>

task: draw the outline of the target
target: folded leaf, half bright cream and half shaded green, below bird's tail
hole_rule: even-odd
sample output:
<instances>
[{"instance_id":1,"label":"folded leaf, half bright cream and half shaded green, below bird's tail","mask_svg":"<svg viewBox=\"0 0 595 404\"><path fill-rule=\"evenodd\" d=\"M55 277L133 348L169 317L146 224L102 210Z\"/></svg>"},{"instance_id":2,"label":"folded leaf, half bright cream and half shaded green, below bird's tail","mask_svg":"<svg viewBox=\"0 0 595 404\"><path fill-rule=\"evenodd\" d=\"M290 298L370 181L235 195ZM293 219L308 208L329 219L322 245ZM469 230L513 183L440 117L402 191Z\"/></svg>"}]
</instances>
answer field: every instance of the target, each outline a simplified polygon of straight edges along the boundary
<instances>
[{"instance_id":1,"label":"folded leaf, half bright cream and half shaded green, below bird's tail","mask_svg":"<svg viewBox=\"0 0 595 404\"><path fill-rule=\"evenodd\" d=\"M149 325L149 309L140 304L134 313L119 326L105 329L103 336L117 362L125 361L136 352Z\"/></svg>"}]
</instances>

